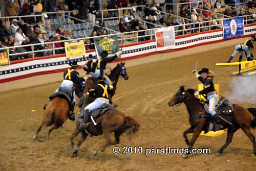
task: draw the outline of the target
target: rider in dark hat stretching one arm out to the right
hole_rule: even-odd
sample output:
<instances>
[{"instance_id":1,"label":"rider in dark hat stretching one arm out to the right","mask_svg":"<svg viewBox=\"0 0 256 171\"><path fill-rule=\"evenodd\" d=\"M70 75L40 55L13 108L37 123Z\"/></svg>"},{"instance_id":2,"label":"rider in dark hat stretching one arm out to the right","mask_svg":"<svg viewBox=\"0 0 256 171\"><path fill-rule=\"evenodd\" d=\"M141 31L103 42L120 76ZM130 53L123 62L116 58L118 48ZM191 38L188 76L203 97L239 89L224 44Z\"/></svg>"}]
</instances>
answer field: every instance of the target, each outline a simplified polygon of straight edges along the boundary
<instances>
[{"instance_id":1,"label":"rider in dark hat stretching one arm out to the right","mask_svg":"<svg viewBox=\"0 0 256 171\"><path fill-rule=\"evenodd\" d=\"M112 82L110 81L109 77L107 77L104 74L104 71L106 69L106 63L113 61L121 54L122 54L122 50L120 50L119 52L117 52L115 54L109 54L108 51L103 51L100 54L101 58L96 61L95 74L105 78L105 83L108 85L112 85ZM93 74L91 74L91 75L93 76Z\"/></svg>"}]
</instances>

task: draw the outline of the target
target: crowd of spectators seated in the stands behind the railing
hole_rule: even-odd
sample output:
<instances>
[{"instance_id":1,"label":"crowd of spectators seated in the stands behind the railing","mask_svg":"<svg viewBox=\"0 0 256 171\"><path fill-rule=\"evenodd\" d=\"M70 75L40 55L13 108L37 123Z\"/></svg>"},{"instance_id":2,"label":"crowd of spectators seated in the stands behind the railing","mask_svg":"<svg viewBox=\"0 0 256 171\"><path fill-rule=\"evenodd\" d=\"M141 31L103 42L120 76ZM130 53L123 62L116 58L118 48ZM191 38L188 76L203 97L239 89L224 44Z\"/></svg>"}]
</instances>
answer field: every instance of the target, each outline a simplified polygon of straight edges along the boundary
<instances>
[{"instance_id":1,"label":"crowd of spectators seated in the stands behind the railing","mask_svg":"<svg viewBox=\"0 0 256 171\"><path fill-rule=\"evenodd\" d=\"M182 34L202 32L210 29L218 29L221 26L220 19L223 16L244 16L251 15L252 9L255 9L256 0L248 2L244 5L239 5L237 8L225 6L221 4L220 0L207 1L198 3L197 1L181 0L180 3L193 2L190 5L180 4L177 13L173 13L172 9L169 9L167 13L163 12L163 4L147 4L146 0L109 0L99 6L99 0L94 1L63 1L59 3L56 0L8 0L6 1L5 15L17 16L9 19L0 20L0 43L1 46L17 46L10 50L10 53L22 53L31 51L31 46L19 47L19 45L28 45L33 43L53 42L65 39L76 39L78 35L74 30L63 30L61 25L56 30L52 29L49 20L46 20L42 25L41 16L29 17L34 14L42 14L42 12L56 12L58 10L72 11L70 13L72 23L81 23L79 20L88 20L94 24L91 36L106 35L112 32L106 29L104 22L97 18L117 17L118 12L123 14L123 18L119 19L118 31L131 32L140 31L139 36L145 35L146 29L153 29L160 26L180 26L179 30L183 30ZM153 1L154 2L154 1ZM255 3L254 3L255 2ZM107 9L118 9L123 7L132 7L145 5L145 8L134 8L133 10L116 10L116 11L103 11ZM191 8L190 8L191 7ZM220 15L216 13L216 9L225 8L224 11L219 10ZM20 19L18 16L26 15ZM48 15L49 19L53 15ZM77 19L74 19L74 18ZM253 19L253 15L247 17L247 19ZM209 22L203 22L209 21ZM10 23L10 27L7 27L7 22ZM200 22L200 23L199 23ZM248 21L251 23L253 20ZM192 23L192 25L191 25ZM193 24L195 23L195 24ZM185 31L184 31L185 29ZM45 35L48 35L46 38ZM181 34L177 32L177 34ZM150 37L140 37L139 41L148 40ZM75 42L75 41L73 41ZM86 49L93 49L93 39L84 40ZM41 44L34 46L36 50L47 50L44 52L36 53L36 56L52 55L53 50L51 48L64 47L63 43L49 43L47 45ZM55 54L65 53L63 49L55 50ZM31 53L24 55L11 56L11 60L24 59L32 57Z\"/></svg>"}]
</instances>

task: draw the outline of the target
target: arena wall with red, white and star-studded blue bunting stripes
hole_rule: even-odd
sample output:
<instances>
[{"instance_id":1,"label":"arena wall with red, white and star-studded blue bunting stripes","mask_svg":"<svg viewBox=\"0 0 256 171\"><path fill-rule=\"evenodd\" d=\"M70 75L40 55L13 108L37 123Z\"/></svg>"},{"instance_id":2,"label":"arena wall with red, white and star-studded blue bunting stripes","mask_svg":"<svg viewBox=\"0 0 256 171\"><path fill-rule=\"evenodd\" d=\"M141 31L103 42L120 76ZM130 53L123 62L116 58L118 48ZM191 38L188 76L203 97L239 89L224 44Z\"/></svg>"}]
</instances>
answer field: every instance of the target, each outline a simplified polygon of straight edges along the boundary
<instances>
[{"instance_id":1,"label":"arena wall with red, white and star-studded blue bunting stripes","mask_svg":"<svg viewBox=\"0 0 256 171\"><path fill-rule=\"evenodd\" d=\"M125 44L121 58L108 65L113 67L115 62L126 61L125 66L129 67L186 55L193 57L195 53L237 45L255 34L256 24L252 24L245 26L244 36L230 39L223 39L221 29L176 36L175 47L172 50L160 52L156 51L155 40ZM87 56L89 54L95 56L95 50L89 50L86 53ZM78 64L84 64L86 60L87 58L78 59ZM62 71L68 67L65 54L11 61L10 66L0 68L0 92L61 81ZM78 69L78 72L82 76L85 74L82 69Z\"/></svg>"}]
</instances>

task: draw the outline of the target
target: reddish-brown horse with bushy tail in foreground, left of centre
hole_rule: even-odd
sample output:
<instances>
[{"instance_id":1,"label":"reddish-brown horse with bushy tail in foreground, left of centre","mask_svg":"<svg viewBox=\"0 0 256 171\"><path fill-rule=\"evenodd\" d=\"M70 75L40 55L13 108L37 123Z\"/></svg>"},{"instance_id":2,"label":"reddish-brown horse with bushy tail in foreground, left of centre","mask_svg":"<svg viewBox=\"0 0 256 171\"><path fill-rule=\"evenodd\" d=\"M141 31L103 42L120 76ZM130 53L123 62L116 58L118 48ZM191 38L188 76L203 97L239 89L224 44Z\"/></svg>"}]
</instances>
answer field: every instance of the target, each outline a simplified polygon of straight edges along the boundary
<instances>
[{"instance_id":1,"label":"reddish-brown horse with bushy tail in foreground, left of centre","mask_svg":"<svg viewBox=\"0 0 256 171\"><path fill-rule=\"evenodd\" d=\"M120 135L124 132L126 132L127 136L129 137L129 140L131 138L131 134L138 131L140 125L137 120L130 116L125 116L122 112L112 109L109 111L106 111L104 114L99 116L97 119L95 119L95 122L97 123L96 126L93 125L92 119L90 119L90 126L87 128L87 130L79 131L78 128L80 126L80 123L82 122L82 118L77 118L76 120L76 128L73 132L73 134L70 137L71 145L74 148L73 156L77 156L78 148L81 146L82 142L86 139L86 137L91 135L100 135L103 133L106 142L104 145L100 146L98 149L95 150L94 155L97 154L99 150L102 152L107 146L118 144L120 142ZM81 138L76 145L73 142L74 137L76 137L79 133L82 133ZM111 140L111 132L115 133L115 141L113 142Z\"/></svg>"}]
</instances>

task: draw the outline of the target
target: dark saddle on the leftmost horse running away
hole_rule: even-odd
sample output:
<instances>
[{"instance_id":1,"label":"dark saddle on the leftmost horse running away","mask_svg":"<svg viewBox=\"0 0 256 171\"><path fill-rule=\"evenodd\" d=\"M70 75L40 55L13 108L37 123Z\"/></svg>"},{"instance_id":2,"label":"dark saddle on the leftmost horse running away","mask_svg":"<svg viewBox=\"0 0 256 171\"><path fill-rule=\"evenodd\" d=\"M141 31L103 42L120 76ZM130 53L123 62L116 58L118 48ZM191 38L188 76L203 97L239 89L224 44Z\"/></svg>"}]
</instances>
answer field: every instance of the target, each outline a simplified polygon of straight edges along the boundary
<instances>
[{"instance_id":1,"label":"dark saddle on the leftmost horse running away","mask_svg":"<svg viewBox=\"0 0 256 171\"><path fill-rule=\"evenodd\" d=\"M49 99L53 100L55 97L61 97L65 99L69 103L69 107L71 107L73 102L73 89L67 88L67 87L61 87L59 86L58 91L53 93Z\"/></svg>"}]
</instances>

